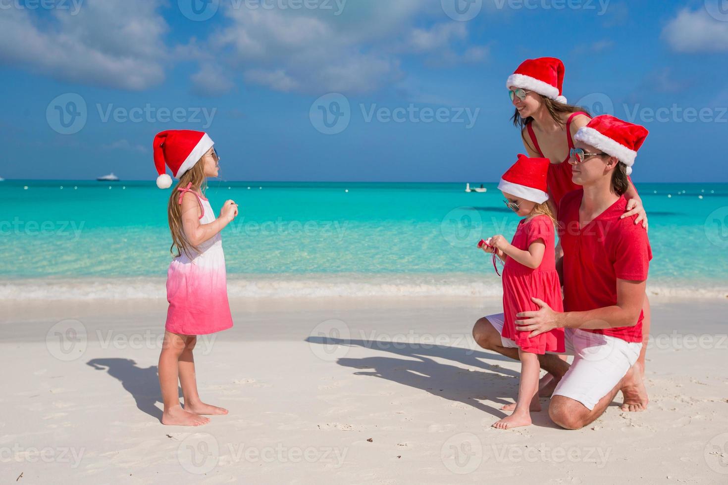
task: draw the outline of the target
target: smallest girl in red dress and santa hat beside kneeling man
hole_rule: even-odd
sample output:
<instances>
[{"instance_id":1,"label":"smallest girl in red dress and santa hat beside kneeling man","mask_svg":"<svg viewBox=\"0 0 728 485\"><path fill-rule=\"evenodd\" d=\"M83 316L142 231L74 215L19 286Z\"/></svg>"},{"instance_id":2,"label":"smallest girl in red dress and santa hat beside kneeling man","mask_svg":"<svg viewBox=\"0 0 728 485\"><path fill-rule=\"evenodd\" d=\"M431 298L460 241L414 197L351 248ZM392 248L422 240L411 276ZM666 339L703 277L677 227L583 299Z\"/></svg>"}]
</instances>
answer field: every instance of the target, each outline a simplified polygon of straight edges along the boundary
<instances>
[{"instance_id":1,"label":"smallest girl in red dress and santa hat beside kneeling man","mask_svg":"<svg viewBox=\"0 0 728 485\"><path fill-rule=\"evenodd\" d=\"M513 241L503 236L488 239L486 252L495 252L505 262L503 268L503 345L518 347L521 359L521 385L513 414L494 423L507 429L531 424L530 411L540 411L539 354L563 352L563 329L531 336L516 328L516 313L538 310L534 300L546 302L555 311L563 311L561 284L555 265L555 220L547 203L546 178L548 159L530 159L518 155L518 161L501 178L498 188L506 205L520 216Z\"/></svg>"}]
</instances>

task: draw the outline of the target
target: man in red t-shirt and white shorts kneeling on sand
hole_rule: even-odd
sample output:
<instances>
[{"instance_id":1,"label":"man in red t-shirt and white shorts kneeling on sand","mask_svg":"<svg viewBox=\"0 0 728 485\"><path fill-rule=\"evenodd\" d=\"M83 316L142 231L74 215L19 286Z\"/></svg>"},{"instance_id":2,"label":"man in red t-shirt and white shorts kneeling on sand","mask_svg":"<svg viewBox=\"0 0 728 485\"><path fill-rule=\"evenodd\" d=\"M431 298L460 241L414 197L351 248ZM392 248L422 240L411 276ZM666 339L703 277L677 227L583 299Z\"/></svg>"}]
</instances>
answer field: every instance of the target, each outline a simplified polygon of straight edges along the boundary
<instances>
[{"instance_id":1,"label":"man in red t-shirt and white shorts kneeling on sand","mask_svg":"<svg viewBox=\"0 0 728 485\"><path fill-rule=\"evenodd\" d=\"M563 313L534 298L540 309L518 313L517 328L537 335L565 329L569 366L554 354L539 356L555 386L549 416L562 428L579 429L596 420L622 390L624 410L646 407L642 348L642 303L652 250L634 217L620 219L628 176L647 130L613 116L597 116L579 129L569 163L582 190L563 197L558 210L563 248ZM518 358L502 339L503 314L480 318L475 341Z\"/></svg>"}]
</instances>

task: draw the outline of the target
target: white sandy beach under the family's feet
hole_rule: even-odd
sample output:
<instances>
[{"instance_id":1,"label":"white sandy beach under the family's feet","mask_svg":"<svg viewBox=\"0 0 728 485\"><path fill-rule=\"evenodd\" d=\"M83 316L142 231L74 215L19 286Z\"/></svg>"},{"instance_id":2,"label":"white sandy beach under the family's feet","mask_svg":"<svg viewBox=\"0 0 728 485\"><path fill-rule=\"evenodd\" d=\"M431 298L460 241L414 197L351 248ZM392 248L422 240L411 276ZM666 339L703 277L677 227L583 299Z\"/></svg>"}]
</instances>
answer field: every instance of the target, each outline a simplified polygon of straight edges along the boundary
<instances>
[{"instance_id":1,"label":"white sandy beach under the family's feet","mask_svg":"<svg viewBox=\"0 0 728 485\"><path fill-rule=\"evenodd\" d=\"M618 396L577 431L545 411L529 428L490 428L519 366L475 348L470 330L498 306L233 300L234 328L196 350L200 395L230 414L193 429L159 423L164 300L4 302L0 481L728 481L728 301L654 300L649 409L620 412Z\"/></svg>"}]
</instances>

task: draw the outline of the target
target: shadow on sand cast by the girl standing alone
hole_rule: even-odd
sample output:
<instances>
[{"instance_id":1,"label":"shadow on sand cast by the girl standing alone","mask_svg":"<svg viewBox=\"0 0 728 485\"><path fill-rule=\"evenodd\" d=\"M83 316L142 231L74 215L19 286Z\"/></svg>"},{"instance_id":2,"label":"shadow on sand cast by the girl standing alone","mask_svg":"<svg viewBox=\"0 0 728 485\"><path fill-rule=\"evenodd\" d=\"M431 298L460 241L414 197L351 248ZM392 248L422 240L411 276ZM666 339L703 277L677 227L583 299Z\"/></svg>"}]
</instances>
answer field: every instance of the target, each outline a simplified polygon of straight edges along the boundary
<instances>
[{"instance_id":1,"label":"shadow on sand cast by the girl standing alone","mask_svg":"<svg viewBox=\"0 0 728 485\"><path fill-rule=\"evenodd\" d=\"M106 370L111 377L122 382L122 387L133 396L140 411L162 421L162 409L156 406L162 402L157 366L138 367L130 358L93 358L86 364L100 371ZM179 393L181 396L181 389Z\"/></svg>"}]
</instances>

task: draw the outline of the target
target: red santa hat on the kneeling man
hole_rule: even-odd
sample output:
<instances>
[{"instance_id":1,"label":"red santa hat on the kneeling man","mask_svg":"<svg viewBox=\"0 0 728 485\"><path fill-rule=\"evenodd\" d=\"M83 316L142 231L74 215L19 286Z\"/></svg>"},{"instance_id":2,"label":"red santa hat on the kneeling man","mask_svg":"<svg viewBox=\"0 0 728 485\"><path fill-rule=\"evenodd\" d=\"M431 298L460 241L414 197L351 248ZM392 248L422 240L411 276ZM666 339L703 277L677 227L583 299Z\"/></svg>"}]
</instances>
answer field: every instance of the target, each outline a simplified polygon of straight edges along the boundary
<instances>
[{"instance_id":1,"label":"red santa hat on the kneeling man","mask_svg":"<svg viewBox=\"0 0 728 485\"><path fill-rule=\"evenodd\" d=\"M596 116L589 121L587 126L579 128L577 134L574 135L574 140L591 145L608 155L616 156L627 166L627 175L630 175L637 151L648 134L645 127L604 114Z\"/></svg>"}]
</instances>

